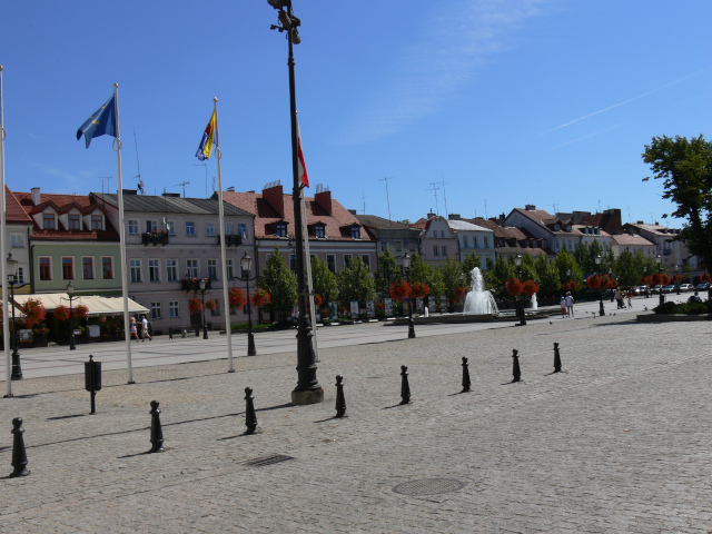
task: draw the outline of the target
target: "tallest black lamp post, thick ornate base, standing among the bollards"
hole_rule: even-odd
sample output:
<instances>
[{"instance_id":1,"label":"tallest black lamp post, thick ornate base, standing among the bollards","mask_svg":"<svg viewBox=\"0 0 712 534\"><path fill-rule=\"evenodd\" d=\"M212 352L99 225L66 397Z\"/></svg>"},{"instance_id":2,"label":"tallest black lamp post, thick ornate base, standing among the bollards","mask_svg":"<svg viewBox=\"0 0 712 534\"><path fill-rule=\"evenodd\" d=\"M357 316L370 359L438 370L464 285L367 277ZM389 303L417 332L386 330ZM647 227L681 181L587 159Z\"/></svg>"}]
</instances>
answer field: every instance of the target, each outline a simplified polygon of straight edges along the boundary
<instances>
[{"instance_id":1,"label":"tallest black lamp post, thick ornate base, standing among the bollards","mask_svg":"<svg viewBox=\"0 0 712 534\"><path fill-rule=\"evenodd\" d=\"M289 117L291 122L291 175L294 189L294 226L295 226L295 254L297 256L297 291L299 303L299 319L297 322L297 387L291 392L291 403L307 405L324 402L324 389L316 376L316 352L314 350L314 333L307 314L307 295L304 268L304 231L301 228L301 185L299 180L299 148L297 135L297 97L294 75L294 47L301 39L297 28L301 21L291 13L291 0L267 0L278 13L279 24L271 24L271 30L287 33L289 70Z\"/></svg>"}]
</instances>

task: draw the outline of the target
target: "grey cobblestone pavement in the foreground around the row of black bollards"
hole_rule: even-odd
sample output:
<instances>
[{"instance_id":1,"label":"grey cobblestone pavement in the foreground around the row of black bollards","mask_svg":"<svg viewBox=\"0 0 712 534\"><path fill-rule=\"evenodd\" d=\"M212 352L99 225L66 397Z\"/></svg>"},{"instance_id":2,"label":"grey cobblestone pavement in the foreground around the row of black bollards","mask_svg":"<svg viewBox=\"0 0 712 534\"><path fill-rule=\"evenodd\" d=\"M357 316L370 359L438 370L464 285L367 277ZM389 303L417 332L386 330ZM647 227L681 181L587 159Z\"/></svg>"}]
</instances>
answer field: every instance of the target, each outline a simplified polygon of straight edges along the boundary
<instances>
[{"instance_id":1,"label":"grey cobblestone pavement in the foreground around the row of black bollards","mask_svg":"<svg viewBox=\"0 0 712 534\"><path fill-rule=\"evenodd\" d=\"M0 479L0 532L710 533L712 323L632 319L323 349L326 402L313 406L288 404L294 353L238 358L234 374L225 360L144 368L134 385L105 373L92 416L80 375L14 383L0 466L12 471L21 416L32 473ZM345 419L333 418L337 374ZM145 454L151 399L162 454ZM250 464L275 455L289 459Z\"/></svg>"}]
</instances>

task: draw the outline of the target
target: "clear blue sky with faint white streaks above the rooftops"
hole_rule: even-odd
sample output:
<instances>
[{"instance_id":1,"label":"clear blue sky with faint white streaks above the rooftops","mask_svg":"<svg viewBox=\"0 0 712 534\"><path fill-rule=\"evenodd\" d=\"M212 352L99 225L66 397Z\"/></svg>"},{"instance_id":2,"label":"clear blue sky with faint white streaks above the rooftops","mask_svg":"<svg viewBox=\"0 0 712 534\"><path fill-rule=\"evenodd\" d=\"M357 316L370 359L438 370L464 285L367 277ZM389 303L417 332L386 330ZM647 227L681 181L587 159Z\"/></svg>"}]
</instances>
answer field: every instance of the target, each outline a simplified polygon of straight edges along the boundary
<instances>
[{"instance_id":1,"label":"clear blue sky with faint white streaks above the rooftops","mask_svg":"<svg viewBox=\"0 0 712 534\"><path fill-rule=\"evenodd\" d=\"M294 12L312 185L359 212L388 217L387 177L394 219L445 215L446 199L463 217L534 204L664 224L673 207L641 181L644 146L711 137L709 0L294 0ZM125 188L136 131L147 194L189 181L187 196L209 195L215 158L206 169L195 152L218 97L224 187L290 189L276 22L266 0L1 2L7 184L115 191L111 138L86 149L76 131L118 82Z\"/></svg>"}]
</instances>

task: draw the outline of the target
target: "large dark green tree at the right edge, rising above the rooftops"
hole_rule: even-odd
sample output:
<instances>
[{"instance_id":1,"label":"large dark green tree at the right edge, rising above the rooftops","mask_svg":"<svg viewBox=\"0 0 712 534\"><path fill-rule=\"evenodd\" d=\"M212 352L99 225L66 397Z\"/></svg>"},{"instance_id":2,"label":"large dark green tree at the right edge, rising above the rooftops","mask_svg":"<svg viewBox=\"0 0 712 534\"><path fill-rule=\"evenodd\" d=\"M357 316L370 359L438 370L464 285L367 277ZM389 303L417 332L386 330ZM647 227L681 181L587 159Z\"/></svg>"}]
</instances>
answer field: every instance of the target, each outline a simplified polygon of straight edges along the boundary
<instances>
[{"instance_id":1,"label":"large dark green tree at the right edge, rising above the rooftops","mask_svg":"<svg viewBox=\"0 0 712 534\"><path fill-rule=\"evenodd\" d=\"M712 142L702 135L690 140L680 136L653 137L642 156L651 166L653 178L664 180L663 198L676 205L672 215L685 219L675 239L683 240L690 253L708 270L712 269Z\"/></svg>"}]
</instances>

